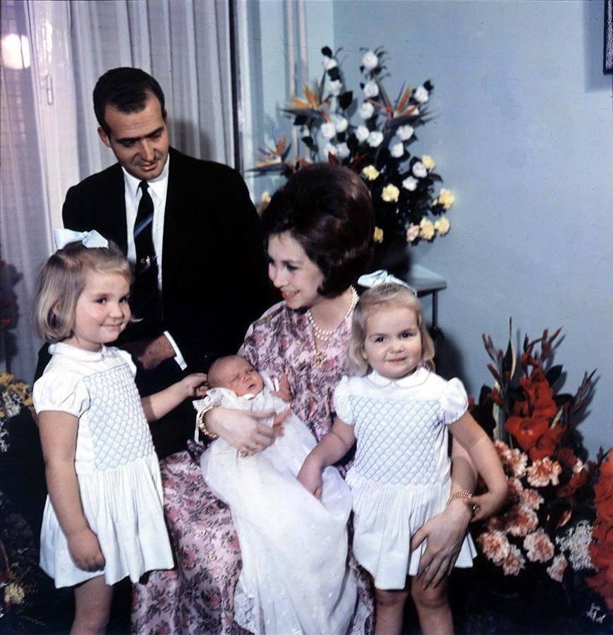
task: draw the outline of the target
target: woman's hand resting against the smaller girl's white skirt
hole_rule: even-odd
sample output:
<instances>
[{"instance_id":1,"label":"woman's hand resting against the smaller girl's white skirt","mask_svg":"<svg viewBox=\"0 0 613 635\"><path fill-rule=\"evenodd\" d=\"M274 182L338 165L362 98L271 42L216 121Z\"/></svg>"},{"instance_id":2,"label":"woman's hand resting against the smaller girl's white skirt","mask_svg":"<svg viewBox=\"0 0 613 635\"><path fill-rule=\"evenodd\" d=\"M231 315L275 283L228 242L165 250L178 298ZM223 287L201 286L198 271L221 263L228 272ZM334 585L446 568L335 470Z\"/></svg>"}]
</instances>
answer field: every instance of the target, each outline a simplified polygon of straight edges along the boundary
<instances>
[{"instance_id":1,"label":"woman's hand resting against the smaller girl's white skirt","mask_svg":"<svg viewBox=\"0 0 613 635\"><path fill-rule=\"evenodd\" d=\"M417 574L418 583L422 588L430 585L436 588L442 579L451 573L471 516L471 507L465 501L453 500L447 509L431 518L415 532L411 540L411 550L417 549L427 540Z\"/></svg>"}]
</instances>

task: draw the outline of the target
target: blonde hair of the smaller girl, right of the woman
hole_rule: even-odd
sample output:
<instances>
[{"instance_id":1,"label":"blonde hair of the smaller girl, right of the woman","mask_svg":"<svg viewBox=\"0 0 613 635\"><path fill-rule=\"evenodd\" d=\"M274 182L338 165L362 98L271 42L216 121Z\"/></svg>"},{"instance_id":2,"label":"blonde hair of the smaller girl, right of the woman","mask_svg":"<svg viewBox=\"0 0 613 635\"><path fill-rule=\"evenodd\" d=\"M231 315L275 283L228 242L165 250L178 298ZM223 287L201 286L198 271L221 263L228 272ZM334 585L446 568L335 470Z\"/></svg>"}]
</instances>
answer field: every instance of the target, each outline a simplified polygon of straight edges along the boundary
<instances>
[{"instance_id":1,"label":"blonde hair of the smaller girl, right of the woman","mask_svg":"<svg viewBox=\"0 0 613 635\"><path fill-rule=\"evenodd\" d=\"M368 289L361 296L356 308L353 310L353 322L351 324L351 339L347 353L349 370L353 375L363 377L372 370L370 364L364 359L364 342L366 341L366 322L368 317L377 310L384 310L392 306L401 306L415 311L417 324L421 335L421 357L419 365L430 370L435 370L435 344L427 332L423 308L413 289L409 289L396 282L384 282Z\"/></svg>"}]
</instances>

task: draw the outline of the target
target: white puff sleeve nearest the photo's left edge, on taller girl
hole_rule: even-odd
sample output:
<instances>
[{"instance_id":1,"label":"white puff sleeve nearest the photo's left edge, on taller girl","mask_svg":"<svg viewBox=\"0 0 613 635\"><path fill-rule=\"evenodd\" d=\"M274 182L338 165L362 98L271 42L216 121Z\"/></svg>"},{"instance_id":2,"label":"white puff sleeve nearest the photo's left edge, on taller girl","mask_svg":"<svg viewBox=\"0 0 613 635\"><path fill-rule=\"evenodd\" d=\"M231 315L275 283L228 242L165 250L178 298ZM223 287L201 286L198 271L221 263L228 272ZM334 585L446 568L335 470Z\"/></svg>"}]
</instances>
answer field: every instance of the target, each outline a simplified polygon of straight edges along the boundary
<instances>
[{"instance_id":1,"label":"white puff sleeve nearest the photo's left edge, on taller girl","mask_svg":"<svg viewBox=\"0 0 613 635\"><path fill-rule=\"evenodd\" d=\"M35 382L32 401L37 413L56 410L78 418L90 407L90 393L80 376L51 371Z\"/></svg>"}]
</instances>

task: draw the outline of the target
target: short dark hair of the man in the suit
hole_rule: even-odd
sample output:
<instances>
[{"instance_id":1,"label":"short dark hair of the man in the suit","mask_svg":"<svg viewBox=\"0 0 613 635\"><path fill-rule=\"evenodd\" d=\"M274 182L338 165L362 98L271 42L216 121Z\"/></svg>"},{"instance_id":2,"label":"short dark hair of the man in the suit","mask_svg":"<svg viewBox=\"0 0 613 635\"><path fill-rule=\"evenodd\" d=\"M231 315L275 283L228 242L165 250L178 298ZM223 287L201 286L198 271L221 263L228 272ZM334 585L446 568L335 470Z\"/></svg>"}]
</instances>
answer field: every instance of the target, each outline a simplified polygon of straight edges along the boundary
<instances>
[{"instance_id":1,"label":"short dark hair of the man in the suit","mask_svg":"<svg viewBox=\"0 0 613 635\"><path fill-rule=\"evenodd\" d=\"M104 109L108 105L125 114L140 112L145 108L148 92L157 97L164 116L164 92L149 73L130 66L111 68L104 73L94 87L94 112L100 128L110 135L111 128L104 121Z\"/></svg>"}]
</instances>

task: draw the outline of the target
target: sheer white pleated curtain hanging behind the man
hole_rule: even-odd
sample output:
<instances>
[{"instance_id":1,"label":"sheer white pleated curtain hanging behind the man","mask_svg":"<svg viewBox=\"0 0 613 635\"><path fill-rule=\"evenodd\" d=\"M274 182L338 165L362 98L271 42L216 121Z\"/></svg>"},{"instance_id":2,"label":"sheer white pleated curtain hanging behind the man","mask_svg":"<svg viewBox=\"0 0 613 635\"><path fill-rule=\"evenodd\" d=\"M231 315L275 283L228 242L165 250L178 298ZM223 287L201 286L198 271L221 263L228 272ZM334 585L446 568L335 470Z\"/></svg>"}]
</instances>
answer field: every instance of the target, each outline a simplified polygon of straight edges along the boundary
<instances>
[{"instance_id":1,"label":"sheer white pleated curtain hanging behind the man","mask_svg":"<svg viewBox=\"0 0 613 635\"><path fill-rule=\"evenodd\" d=\"M227 0L1 0L0 368L31 380L29 320L66 189L114 162L92 90L116 66L162 85L171 145L233 165ZM8 301L8 304L7 304Z\"/></svg>"}]
</instances>

